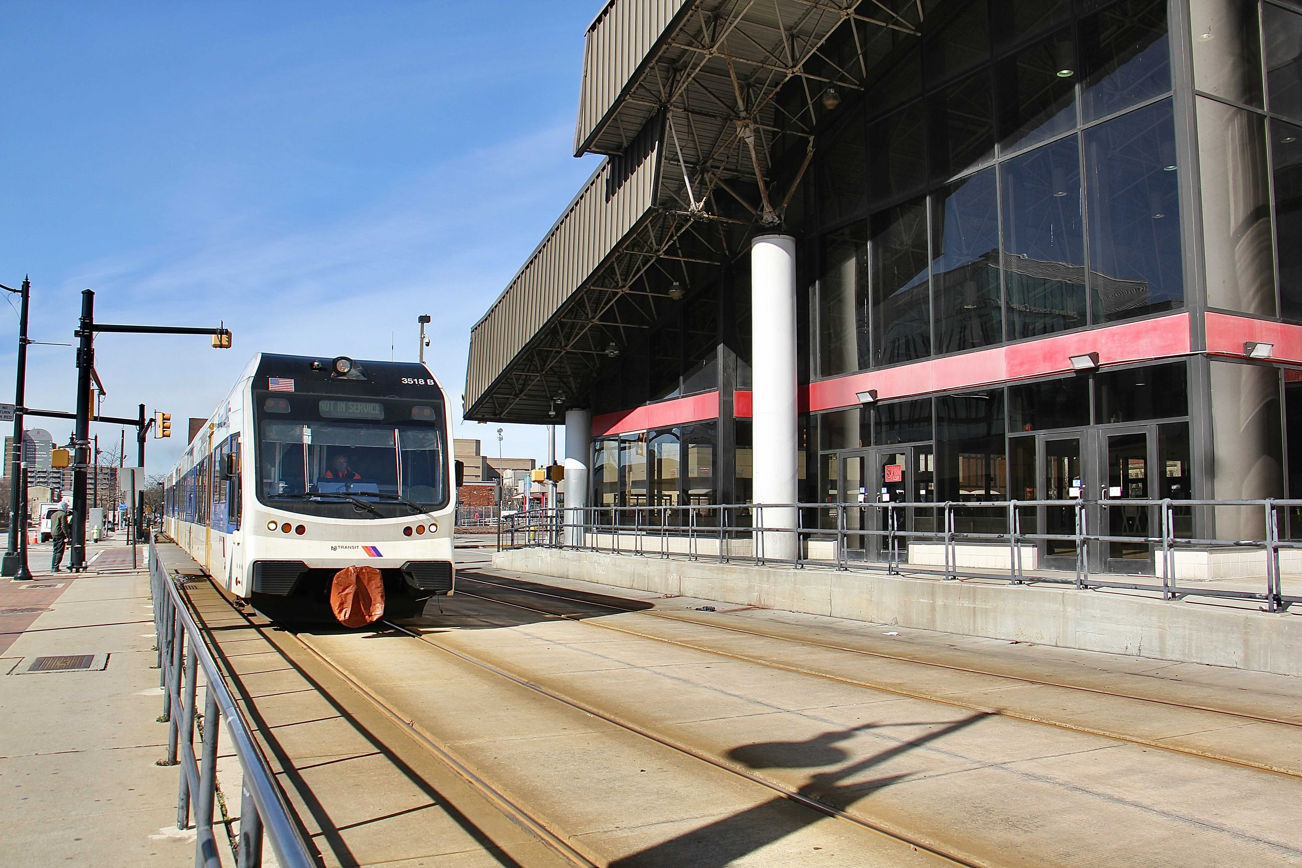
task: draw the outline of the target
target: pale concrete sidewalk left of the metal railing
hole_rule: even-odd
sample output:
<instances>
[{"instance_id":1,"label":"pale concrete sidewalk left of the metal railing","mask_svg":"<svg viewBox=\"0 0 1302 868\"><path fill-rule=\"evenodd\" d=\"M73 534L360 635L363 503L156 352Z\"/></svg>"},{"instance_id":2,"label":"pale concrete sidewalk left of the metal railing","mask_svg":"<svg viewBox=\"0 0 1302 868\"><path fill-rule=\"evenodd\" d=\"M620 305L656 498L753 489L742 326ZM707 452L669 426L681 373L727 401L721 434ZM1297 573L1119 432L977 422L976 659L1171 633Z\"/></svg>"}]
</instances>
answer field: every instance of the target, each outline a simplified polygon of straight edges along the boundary
<instances>
[{"instance_id":1,"label":"pale concrete sidewalk left of the metal railing","mask_svg":"<svg viewBox=\"0 0 1302 868\"><path fill-rule=\"evenodd\" d=\"M138 571L129 548L96 556L85 574L51 574L49 545L33 545L35 580L0 580L0 852L13 865L189 865L177 769L155 765L167 726L143 554ZM90 656L90 669L26 673L42 656Z\"/></svg>"}]
</instances>

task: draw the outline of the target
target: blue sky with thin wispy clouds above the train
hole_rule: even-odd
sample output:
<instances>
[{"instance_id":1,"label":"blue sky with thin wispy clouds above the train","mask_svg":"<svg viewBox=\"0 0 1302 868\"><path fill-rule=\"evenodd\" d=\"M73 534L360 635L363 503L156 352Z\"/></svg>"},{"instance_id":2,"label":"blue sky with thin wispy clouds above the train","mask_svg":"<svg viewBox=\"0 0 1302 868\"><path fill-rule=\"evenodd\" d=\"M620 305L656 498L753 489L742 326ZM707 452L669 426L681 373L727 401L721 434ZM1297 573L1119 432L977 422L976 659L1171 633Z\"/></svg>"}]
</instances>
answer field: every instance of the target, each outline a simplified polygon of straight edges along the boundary
<instances>
[{"instance_id":1,"label":"blue sky with thin wispy clouds above the train","mask_svg":"<svg viewBox=\"0 0 1302 868\"><path fill-rule=\"evenodd\" d=\"M73 341L86 288L99 321L232 328L227 351L96 340L102 411L173 416L150 472L254 353L388 359L396 333L414 359L419 314L460 414L470 327L596 165L572 142L599 7L5 4L0 284L31 275L36 341ZM0 307L7 401L17 319ZM30 347L29 406L74 387L70 347ZM497 426L457 422L496 454ZM544 458L543 428L506 426L504 450Z\"/></svg>"}]
</instances>

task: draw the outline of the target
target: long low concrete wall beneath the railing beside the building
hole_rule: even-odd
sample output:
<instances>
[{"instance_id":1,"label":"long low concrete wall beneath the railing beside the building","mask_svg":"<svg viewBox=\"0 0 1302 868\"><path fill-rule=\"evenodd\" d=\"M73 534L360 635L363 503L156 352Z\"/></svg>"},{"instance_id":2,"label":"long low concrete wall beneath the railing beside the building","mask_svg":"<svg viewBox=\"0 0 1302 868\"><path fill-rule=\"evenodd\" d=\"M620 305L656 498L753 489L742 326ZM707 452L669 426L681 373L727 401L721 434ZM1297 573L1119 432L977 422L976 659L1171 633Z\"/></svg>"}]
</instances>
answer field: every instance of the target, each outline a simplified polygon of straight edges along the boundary
<instances>
[{"instance_id":1,"label":"long low concrete wall beneath the railing beside the building","mask_svg":"<svg viewBox=\"0 0 1302 868\"><path fill-rule=\"evenodd\" d=\"M519 573L967 636L1302 675L1302 617L1075 588L910 579L560 549L514 549Z\"/></svg>"}]
</instances>

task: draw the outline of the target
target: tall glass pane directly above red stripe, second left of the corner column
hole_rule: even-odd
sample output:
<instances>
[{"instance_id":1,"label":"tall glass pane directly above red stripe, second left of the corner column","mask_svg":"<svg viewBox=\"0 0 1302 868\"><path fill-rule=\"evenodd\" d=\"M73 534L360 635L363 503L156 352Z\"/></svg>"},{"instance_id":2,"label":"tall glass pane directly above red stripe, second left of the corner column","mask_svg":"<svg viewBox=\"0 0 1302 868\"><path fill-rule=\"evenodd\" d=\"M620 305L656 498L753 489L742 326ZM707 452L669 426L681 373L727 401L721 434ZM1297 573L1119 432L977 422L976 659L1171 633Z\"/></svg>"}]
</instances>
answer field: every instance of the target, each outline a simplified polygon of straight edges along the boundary
<instances>
[{"instance_id":1,"label":"tall glass pane directly above red stripe, second left of the corner column","mask_svg":"<svg viewBox=\"0 0 1302 868\"><path fill-rule=\"evenodd\" d=\"M1001 168L1009 338L1086 324L1079 148L1074 137Z\"/></svg>"}]
</instances>

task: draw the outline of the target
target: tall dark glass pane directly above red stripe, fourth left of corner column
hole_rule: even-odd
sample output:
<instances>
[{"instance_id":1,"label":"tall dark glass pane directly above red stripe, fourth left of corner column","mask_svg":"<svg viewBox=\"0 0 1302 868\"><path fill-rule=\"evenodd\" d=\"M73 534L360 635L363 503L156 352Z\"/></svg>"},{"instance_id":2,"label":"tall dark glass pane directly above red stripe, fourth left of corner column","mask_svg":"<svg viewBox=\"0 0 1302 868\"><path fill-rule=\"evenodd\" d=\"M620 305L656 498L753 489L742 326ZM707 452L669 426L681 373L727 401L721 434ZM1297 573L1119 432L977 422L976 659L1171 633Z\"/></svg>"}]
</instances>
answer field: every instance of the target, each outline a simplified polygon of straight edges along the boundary
<instances>
[{"instance_id":1,"label":"tall dark glass pane directly above red stripe, fourth left of corner column","mask_svg":"<svg viewBox=\"0 0 1302 868\"><path fill-rule=\"evenodd\" d=\"M872 362L894 364L931 354L927 289L927 200L872 217Z\"/></svg>"}]
</instances>

